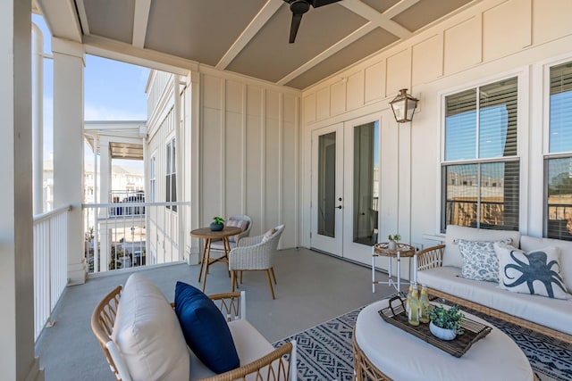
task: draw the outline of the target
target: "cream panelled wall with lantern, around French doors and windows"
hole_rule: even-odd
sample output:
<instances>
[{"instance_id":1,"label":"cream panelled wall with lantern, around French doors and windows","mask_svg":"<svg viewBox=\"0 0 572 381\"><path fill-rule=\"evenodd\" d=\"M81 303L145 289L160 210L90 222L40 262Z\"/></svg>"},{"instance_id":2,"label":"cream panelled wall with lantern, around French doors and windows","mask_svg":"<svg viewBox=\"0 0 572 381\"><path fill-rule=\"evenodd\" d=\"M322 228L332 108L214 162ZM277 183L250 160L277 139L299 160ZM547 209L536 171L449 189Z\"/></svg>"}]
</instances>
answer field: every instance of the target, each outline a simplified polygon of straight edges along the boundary
<instances>
[{"instance_id":1,"label":"cream panelled wall with lantern, around French doors and windows","mask_svg":"<svg viewBox=\"0 0 572 381\"><path fill-rule=\"evenodd\" d=\"M520 230L542 235L543 76L547 65L572 61L570 14L568 0L485 0L304 90L301 231L310 230L312 131L374 115L381 120L380 240L399 231L403 242L436 244L424 235L441 228L442 98L517 76ZM400 88L420 104L413 122L398 126L389 102ZM300 239L310 245L309 235Z\"/></svg>"}]
</instances>

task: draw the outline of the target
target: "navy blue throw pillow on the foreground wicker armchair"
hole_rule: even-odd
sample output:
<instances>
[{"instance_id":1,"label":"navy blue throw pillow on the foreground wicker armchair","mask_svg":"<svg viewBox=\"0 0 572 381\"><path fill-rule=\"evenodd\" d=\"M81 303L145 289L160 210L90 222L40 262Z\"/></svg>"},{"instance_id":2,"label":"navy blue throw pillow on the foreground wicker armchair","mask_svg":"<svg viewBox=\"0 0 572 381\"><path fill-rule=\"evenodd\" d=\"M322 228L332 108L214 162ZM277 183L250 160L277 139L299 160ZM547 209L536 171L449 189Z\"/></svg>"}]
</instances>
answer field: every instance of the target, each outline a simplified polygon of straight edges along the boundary
<instances>
[{"instance_id":1,"label":"navy blue throw pillow on the foreground wicker armchair","mask_svg":"<svg viewBox=\"0 0 572 381\"><path fill-rule=\"evenodd\" d=\"M215 373L239 368L231 330L206 294L183 282L175 287L175 313L183 335L198 359Z\"/></svg>"}]
</instances>

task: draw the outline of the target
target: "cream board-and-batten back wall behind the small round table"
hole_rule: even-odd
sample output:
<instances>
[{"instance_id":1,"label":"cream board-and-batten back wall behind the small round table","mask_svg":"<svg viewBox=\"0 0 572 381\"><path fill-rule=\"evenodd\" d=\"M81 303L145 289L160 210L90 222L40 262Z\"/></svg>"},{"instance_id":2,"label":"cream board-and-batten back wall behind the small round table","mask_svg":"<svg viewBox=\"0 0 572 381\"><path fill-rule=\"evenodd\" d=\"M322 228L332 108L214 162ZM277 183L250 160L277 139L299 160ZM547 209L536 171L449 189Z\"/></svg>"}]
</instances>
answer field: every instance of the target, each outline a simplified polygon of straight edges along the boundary
<instances>
[{"instance_id":1,"label":"cream board-and-batten back wall behind the small round table","mask_svg":"<svg viewBox=\"0 0 572 381\"><path fill-rule=\"evenodd\" d=\"M200 72L200 224L247 214L250 236L284 224L280 247L299 246L300 92Z\"/></svg>"}]
</instances>

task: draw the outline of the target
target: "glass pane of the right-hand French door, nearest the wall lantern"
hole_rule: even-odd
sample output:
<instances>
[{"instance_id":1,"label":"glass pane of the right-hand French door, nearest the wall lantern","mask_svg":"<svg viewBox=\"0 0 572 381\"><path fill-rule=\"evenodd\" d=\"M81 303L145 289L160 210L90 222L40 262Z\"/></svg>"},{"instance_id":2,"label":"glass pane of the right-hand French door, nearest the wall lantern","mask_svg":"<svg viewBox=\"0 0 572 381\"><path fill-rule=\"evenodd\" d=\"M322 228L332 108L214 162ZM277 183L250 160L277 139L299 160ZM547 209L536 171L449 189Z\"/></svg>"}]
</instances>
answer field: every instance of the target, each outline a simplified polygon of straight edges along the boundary
<instances>
[{"instance_id":1,"label":"glass pane of the right-hand French door, nearest the wall lantern","mask_svg":"<svg viewBox=\"0 0 572 381\"><path fill-rule=\"evenodd\" d=\"M353 242L377 242L379 212L379 122L354 128Z\"/></svg>"}]
</instances>

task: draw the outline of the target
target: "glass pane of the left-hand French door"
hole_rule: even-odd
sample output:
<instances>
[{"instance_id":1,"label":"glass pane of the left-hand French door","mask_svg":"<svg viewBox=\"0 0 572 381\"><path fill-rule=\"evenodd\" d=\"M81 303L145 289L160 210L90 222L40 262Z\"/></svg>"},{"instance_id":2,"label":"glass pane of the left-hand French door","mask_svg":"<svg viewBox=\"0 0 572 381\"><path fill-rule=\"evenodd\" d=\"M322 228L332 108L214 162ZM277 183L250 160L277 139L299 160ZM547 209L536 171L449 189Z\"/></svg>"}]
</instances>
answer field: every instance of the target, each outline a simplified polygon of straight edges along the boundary
<instances>
[{"instance_id":1,"label":"glass pane of the left-hand French door","mask_svg":"<svg viewBox=\"0 0 572 381\"><path fill-rule=\"evenodd\" d=\"M318 234L335 237L336 133L320 136L318 143Z\"/></svg>"}]
</instances>

